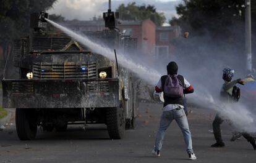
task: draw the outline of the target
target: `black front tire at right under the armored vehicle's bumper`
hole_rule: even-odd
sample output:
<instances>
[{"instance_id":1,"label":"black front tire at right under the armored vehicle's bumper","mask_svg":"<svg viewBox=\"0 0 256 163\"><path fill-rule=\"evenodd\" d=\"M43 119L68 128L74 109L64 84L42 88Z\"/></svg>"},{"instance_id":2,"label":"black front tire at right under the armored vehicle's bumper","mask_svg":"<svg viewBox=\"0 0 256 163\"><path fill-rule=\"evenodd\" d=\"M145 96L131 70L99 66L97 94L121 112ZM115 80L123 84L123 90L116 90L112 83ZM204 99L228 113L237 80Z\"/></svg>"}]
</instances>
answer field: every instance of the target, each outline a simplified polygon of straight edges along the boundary
<instances>
[{"instance_id":1,"label":"black front tire at right under the armored vehicle's bumper","mask_svg":"<svg viewBox=\"0 0 256 163\"><path fill-rule=\"evenodd\" d=\"M121 139L124 137L126 129L126 121L124 117L124 109L121 107L108 108L106 111L106 125L111 139Z\"/></svg>"}]
</instances>

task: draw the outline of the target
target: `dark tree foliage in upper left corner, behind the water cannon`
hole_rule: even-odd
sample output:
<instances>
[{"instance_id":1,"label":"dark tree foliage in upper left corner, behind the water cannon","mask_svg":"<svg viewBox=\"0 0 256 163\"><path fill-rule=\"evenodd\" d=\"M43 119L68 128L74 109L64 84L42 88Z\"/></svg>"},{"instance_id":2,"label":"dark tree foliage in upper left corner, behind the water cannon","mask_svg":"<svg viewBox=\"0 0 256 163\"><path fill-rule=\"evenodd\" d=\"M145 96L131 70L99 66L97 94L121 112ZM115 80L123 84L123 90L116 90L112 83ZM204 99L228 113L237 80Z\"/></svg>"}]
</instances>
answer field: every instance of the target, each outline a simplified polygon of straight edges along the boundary
<instances>
[{"instance_id":1,"label":"dark tree foliage in upper left corner, behind the water cannon","mask_svg":"<svg viewBox=\"0 0 256 163\"><path fill-rule=\"evenodd\" d=\"M30 14L49 9L56 0L0 0L0 45L27 35Z\"/></svg>"}]
</instances>

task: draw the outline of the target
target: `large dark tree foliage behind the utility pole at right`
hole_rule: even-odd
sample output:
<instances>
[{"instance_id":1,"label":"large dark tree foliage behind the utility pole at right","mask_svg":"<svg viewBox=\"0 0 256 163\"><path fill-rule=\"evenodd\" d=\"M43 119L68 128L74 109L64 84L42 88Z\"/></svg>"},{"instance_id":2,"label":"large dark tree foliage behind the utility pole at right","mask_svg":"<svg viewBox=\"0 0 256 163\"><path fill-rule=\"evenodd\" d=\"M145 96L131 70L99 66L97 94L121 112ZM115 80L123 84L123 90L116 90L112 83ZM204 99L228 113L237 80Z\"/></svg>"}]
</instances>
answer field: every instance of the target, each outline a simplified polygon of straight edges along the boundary
<instances>
[{"instance_id":1,"label":"large dark tree foliage behind the utility pole at right","mask_svg":"<svg viewBox=\"0 0 256 163\"><path fill-rule=\"evenodd\" d=\"M169 23L180 25L183 31L190 31L190 38L207 35L215 39L215 44L219 45L218 49L236 49L240 54L244 54L244 0L182 0L176 10L179 18L173 18ZM251 14L252 51L255 54L256 1L253 0ZM195 46L197 45L194 44L192 47ZM253 60L256 64L256 57L253 56Z\"/></svg>"}]
</instances>

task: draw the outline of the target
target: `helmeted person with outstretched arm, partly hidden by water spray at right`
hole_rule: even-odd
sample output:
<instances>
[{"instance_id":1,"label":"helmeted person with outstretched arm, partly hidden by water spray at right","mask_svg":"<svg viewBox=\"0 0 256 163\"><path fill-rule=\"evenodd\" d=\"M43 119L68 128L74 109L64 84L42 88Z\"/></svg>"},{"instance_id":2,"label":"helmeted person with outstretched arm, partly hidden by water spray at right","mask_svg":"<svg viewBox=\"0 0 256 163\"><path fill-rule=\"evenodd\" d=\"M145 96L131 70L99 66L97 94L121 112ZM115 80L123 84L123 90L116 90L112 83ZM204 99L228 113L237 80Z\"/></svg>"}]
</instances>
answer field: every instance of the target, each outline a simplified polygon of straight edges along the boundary
<instances>
[{"instance_id":1,"label":"helmeted person with outstretched arm, partly hidden by water spray at right","mask_svg":"<svg viewBox=\"0 0 256 163\"><path fill-rule=\"evenodd\" d=\"M232 70L231 68L224 68L223 70L224 84L221 88L221 100L226 103L233 103L237 101L237 100L234 100L233 98L233 89L237 83L244 84L244 81L242 79L231 81L233 76L234 76L234 70ZM224 119L220 116L219 113L217 113L213 121L213 134L214 134L216 143L211 145L211 147L225 146L221 137L221 129L220 129L220 125L223 123L223 121ZM253 148L256 149L254 137L250 136L249 133L241 132L241 134L247 141L249 141L252 144Z\"/></svg>"}]
</instances>

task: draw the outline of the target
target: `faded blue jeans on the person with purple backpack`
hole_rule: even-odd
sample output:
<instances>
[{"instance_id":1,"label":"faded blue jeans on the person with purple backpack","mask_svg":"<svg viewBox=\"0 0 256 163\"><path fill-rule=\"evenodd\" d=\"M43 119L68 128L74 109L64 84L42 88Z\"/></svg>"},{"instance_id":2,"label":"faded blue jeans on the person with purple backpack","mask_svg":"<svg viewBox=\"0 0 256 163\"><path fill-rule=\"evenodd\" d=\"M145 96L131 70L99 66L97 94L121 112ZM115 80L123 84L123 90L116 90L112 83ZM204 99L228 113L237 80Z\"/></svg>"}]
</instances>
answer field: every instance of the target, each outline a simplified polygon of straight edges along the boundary
<instances>
[{"instance_id":1,"label":"faded blue jeans on the person with purple backpack","mask_svg":"<svg viewBox=\"0 0 256 163\"><path fill-rule=\"evenodd\" d=\"M173 121L173 119L175 119L183 133L184 141L187 146L187 153L193 153L191 133L189 131L189 123L187 122L186 114L184 113L184 109L182 108L177 108L171 111L163 111L160 120L160 127L156 135L155 151L161 150L163 145L164 133L171 124L171 122Z\"/></svg>"}]
</instances>

